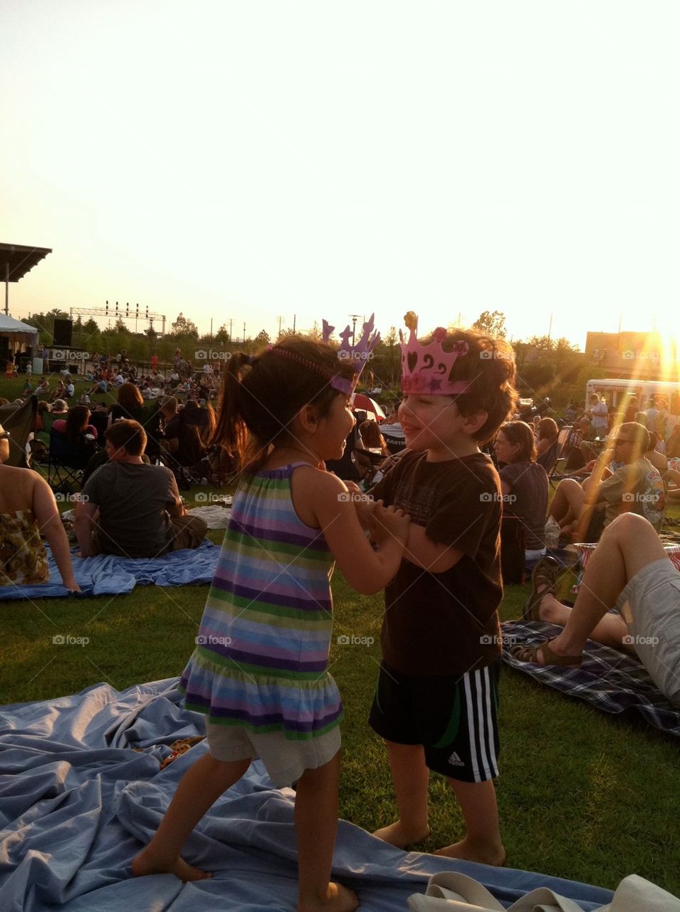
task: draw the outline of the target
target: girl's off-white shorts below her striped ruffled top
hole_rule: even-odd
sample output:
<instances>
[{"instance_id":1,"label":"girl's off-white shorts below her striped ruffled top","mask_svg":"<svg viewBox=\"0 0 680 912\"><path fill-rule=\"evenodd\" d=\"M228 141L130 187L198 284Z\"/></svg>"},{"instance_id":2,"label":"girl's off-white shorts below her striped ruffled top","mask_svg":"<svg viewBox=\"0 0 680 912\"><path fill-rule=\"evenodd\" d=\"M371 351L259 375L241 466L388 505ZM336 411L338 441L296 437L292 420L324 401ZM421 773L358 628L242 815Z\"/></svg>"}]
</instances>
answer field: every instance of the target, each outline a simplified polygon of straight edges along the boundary
<instances>
[{"instance_id":1,"label":"girl's off-white shorts below her striped ruffled top","mask_svg":"<svg viewBox=\"0 0 680 912\"><path fill-rule=\"evenodd\" d=\"M340 750L340 726L308 741L293 741L283 731L255 734L238 725L215 725L206 721L211 757L232 763L260 759L273 785L292 785L305 770L316 770L333 760Z\"/></svg>"}]
</instances>

